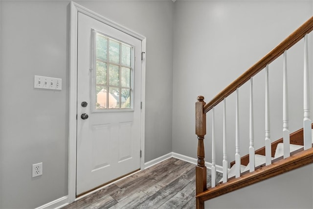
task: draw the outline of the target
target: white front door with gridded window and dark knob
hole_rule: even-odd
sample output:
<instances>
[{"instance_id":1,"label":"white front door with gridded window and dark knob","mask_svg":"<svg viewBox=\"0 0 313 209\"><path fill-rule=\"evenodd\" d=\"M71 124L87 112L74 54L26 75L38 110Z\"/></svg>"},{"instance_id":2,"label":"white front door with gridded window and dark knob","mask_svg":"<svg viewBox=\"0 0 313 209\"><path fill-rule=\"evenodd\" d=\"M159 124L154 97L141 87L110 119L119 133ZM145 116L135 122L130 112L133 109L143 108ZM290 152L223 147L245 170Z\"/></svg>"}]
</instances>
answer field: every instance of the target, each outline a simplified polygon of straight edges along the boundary
<instances>
[{"instance_id":1,"label":"white front door with gridded window and dark knob","mask_svg":"<svg viewBox=\"0 0 313 209\"><path fill-rule=\"evenodd\" d=\"M140 168L141 41L78 13L76 195Z\"/></svg>"}]
</instances>

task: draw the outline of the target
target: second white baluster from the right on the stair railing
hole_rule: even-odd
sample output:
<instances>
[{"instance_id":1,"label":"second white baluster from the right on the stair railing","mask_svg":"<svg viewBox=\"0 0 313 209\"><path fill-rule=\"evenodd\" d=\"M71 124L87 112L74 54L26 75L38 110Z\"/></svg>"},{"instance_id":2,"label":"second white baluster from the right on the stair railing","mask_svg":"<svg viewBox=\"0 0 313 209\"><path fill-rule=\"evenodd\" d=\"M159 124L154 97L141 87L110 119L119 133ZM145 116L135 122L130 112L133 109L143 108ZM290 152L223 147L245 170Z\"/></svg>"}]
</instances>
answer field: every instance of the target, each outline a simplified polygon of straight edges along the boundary
<instances>
[{"instance_id":1,"label":"second white baluster from the right on the stair railing","mask_svg":"<svg viewBox=\"0 0 313 209\"><path fill-rule=\"evenodd\" d=\"M287 50L284 51L283 67L283 142L284 158L290 157L290 132L288 110Z\"/></svg>"}]
</instances>

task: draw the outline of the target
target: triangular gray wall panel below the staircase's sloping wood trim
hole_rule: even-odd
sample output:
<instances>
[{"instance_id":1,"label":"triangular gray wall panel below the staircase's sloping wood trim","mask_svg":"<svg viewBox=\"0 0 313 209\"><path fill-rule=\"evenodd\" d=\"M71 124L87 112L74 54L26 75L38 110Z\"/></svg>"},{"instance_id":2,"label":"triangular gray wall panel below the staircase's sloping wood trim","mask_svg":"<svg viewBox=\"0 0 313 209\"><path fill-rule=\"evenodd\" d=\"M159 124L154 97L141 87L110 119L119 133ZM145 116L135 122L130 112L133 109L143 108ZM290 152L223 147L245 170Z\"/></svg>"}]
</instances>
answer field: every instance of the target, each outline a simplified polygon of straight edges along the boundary
<instances>
[{"instance_id":1,"label":"triangular gray wall panel below the staircase's sloping wood trim","mask_svg":"<svg viewBox=\"0 0 313 209\"><path fill-rule=\"evenodd\" d=\"M205 202L206 209L312 209L313 166L292 170ZM299 188L299 189L296 189Z\"/></svg>"}]
</instances>

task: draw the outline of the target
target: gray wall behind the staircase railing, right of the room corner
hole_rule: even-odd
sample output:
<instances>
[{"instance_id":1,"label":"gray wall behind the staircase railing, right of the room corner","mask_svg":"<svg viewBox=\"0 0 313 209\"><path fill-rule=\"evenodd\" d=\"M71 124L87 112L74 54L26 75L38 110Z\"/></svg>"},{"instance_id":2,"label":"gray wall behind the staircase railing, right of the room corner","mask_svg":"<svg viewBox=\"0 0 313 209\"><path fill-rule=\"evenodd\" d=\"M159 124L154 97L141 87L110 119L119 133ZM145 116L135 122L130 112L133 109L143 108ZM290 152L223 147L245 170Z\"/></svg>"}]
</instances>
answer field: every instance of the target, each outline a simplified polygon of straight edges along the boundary
<instances>
[{"instance_id":1,"label":"gray wall behind the staircase railing, right of the room corner","mask_svg":"<svg viewBox=\"0 0 313 209\"><path fill-rule=\"evenodd\" d=\"M312 0L176 1L173 68L173 151L197 157L195 102L209 102L312 16ZM310 46L312 42L310 41ZM310 53L312 54L312 47ZM290 129L303 121L303 42L288 51ZM312 66L312 59L310 62ZM282 57L269 65L271 139L282 137ZM311 73L312 74L312 73ZM265 73L254 78L255 146L264 146ZM300 84L299 84L300 83ZM297 93L300 92L300 93ZM249 86L239 90L241 153L248 153ZM235 156L235 95L226 100L228 160ZM217 164L223 155L223 104L216 107ZM211 113L205 159L211 162Z\"/></svg>"}]
</instances>

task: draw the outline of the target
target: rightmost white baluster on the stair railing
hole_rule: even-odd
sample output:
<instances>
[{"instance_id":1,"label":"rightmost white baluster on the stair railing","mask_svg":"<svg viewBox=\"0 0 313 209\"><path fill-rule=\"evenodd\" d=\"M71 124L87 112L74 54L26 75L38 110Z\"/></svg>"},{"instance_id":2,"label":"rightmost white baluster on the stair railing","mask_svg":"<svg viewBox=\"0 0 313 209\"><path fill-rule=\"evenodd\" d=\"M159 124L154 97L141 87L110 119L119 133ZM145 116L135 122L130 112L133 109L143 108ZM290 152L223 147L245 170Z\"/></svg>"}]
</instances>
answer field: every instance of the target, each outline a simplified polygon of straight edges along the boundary
<instances>
[{"instance_id":1,"label":"rightmost white baluster on the stair railing","mask_svg":"<svg viewBox=\"0 0 313 209\"><path fill-rule=\"evenodd\" d=\"M303 88L303 137L304 150L312 147L311 124L310 119L310 83L309 83L309 58L308 58L308 34L304 36L304 88Z\"/></svg>"}]
</instances>

